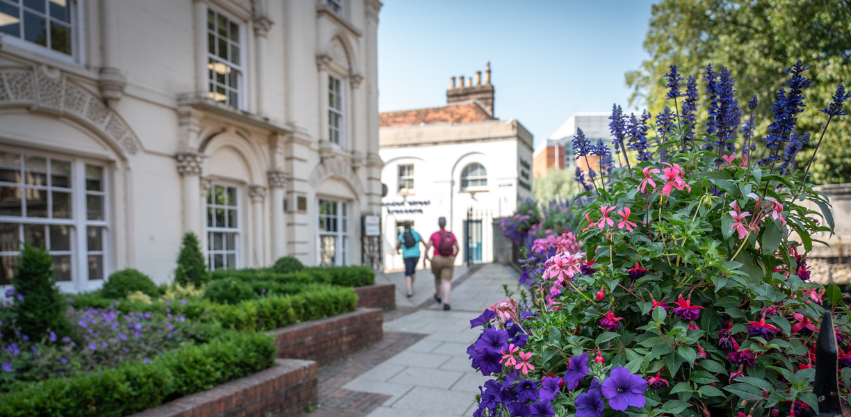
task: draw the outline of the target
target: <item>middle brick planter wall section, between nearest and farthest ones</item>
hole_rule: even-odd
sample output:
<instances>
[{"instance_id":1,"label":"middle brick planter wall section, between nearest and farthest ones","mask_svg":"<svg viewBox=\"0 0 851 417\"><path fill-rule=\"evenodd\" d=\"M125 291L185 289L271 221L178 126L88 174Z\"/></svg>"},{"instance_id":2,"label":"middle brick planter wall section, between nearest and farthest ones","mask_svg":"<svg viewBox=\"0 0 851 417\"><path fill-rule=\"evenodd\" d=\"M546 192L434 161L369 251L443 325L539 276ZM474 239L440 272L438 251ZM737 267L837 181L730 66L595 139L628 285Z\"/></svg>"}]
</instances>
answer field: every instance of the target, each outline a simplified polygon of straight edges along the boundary
<instances>
[{"instance_id":1,"label":"middle brick planter wall section, between nearest and farthest ones","mask_svg":"<svg viewBox=\"0 0 851 417\"><path fill-rule=\"evenodd\" d=\"M269 333L275 336L278 357L310 359L322 366L381 340L384 336L383 323L381 309L358 308L339 316L277 328Z\"/></svg>"}]
</instances>

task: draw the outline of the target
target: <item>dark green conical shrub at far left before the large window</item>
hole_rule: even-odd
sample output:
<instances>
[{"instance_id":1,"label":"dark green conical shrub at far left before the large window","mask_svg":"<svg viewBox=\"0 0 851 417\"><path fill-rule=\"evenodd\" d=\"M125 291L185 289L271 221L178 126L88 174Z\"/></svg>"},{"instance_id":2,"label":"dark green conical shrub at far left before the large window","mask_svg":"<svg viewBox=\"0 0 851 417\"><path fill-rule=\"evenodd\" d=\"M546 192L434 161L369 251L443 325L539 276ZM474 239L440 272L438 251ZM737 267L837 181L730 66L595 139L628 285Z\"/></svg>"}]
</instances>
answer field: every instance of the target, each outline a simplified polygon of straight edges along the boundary
<instances>
[{"instance_id":1,"label":"dark green conical shrub at far left before the large window","mask_svg":"<svg viewBox=\"0 0 851 417\"><path fill-rule=\"evenodd\" d=\"M24 245L15 267L14 311L21 334L41 337L50 329L60 336L71 333L65 318L66 299L54 281L54 263L44 249Z\"/></svg>"}]
</instances>

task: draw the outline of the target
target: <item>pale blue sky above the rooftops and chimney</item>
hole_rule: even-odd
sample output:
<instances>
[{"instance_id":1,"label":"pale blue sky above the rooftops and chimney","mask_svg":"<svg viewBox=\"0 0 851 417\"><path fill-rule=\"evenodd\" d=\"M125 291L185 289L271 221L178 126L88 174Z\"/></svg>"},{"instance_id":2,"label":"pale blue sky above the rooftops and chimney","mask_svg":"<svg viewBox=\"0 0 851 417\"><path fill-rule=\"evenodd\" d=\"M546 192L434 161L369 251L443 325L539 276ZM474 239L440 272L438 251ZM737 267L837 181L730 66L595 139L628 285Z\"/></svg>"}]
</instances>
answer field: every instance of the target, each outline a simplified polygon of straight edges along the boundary
<instances>
[{"instance_id":1,"label":"pale blue sky above the rooftops and chimney","mask_svg":"<svg viewBox=\"0 0 851 417\"><path fill-rule=\"evenodd\" d=\"M443 106L449 77L491 61L496 117L535 137L577 111L626 107L652 0L384 0L379 109Z\"/></svg>"}]
</instances>

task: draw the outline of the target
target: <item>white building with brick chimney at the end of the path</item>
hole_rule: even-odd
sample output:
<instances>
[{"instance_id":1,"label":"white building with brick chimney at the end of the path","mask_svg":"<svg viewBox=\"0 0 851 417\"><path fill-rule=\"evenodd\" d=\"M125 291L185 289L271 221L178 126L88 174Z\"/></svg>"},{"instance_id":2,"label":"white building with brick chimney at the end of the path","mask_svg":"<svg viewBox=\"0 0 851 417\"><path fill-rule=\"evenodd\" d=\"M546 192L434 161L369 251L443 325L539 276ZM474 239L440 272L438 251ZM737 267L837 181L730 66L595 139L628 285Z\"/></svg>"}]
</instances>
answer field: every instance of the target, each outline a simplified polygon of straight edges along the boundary
<instances>
[{"instance_id":1,"label":"white building with brick chimney at the end of the path","mask_svg":"<svg viewBox=\"0 0 851 417\"><path fill-rule=\"evenodd\" d=\"M428 239L440 217L459 240L456 264L468 255L471 262L490 262L491 221L513 214L520 198L531 197L533 137L517 120L494 117L489 66L484 83L481 72L475 84L461 77L456 87L453 77L447 98L443 107L380 114L381 182L388 188L382 199L387 269L404 266L395 248L405 220Z\"/></svg>"}]
</instances>

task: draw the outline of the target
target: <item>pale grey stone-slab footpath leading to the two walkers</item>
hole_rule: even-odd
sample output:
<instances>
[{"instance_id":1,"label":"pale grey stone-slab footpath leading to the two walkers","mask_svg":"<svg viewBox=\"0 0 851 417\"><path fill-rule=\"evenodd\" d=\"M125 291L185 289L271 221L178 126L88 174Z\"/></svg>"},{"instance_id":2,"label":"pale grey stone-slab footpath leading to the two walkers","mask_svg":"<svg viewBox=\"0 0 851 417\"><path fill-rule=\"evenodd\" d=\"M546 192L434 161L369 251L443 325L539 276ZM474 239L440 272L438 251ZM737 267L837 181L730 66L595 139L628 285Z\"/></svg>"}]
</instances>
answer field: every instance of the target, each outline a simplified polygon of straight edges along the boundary
<instances>
[{"instance_id":1,"label":"pale grey stone-slab footpath leading to the two walkers","mask_svg":"<svg viewBox=\"0 0 851 417\"><path fill-rule=\"evenodd\" d=\"M402 303L414 305L420 299L425 303L434 294L431 274L421 272L428 271L418 271L417 283L423 288L415 286L414 300L405 299L402 294ZM393 274L386 275L391 276L386 279L397 280ZM452 311L440 310L434 303L386 321L385 332L408 335L406 340L412 340L410 334L420 334L422 339L358 374L341 388L383 396L371 397L374 402L384 401L368 417L472 415L478 386L488 378L477 374L467 358L466 348L479 334L471 330L470 320L505 298L504 284L517 292L517 278L507 267L484 265L453 289Z\"/></svg>"}]
</instances>

